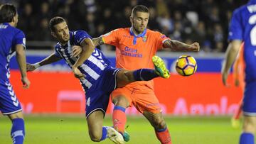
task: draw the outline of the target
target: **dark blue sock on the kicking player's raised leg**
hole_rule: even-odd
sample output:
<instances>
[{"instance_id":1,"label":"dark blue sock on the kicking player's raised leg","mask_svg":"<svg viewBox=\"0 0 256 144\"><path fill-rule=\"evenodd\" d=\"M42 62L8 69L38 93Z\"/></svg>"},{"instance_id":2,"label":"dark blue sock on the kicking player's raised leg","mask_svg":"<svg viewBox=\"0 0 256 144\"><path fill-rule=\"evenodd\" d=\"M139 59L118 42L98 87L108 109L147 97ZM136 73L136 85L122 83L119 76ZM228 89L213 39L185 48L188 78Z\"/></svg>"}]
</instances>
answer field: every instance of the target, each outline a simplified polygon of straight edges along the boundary
<instances>
[{"instance_id":1,"label":"dark blue sock on the kicking player's raised leg","mask_svg":"<svg viewBox=\"0 0 256 144\"><path fill-rule=\"evenodd\" d=\"M159 77L153 69L139 69L133 72L134 79L136 81L149 81L156 77Z\"/></svg>"}]
</instances>

